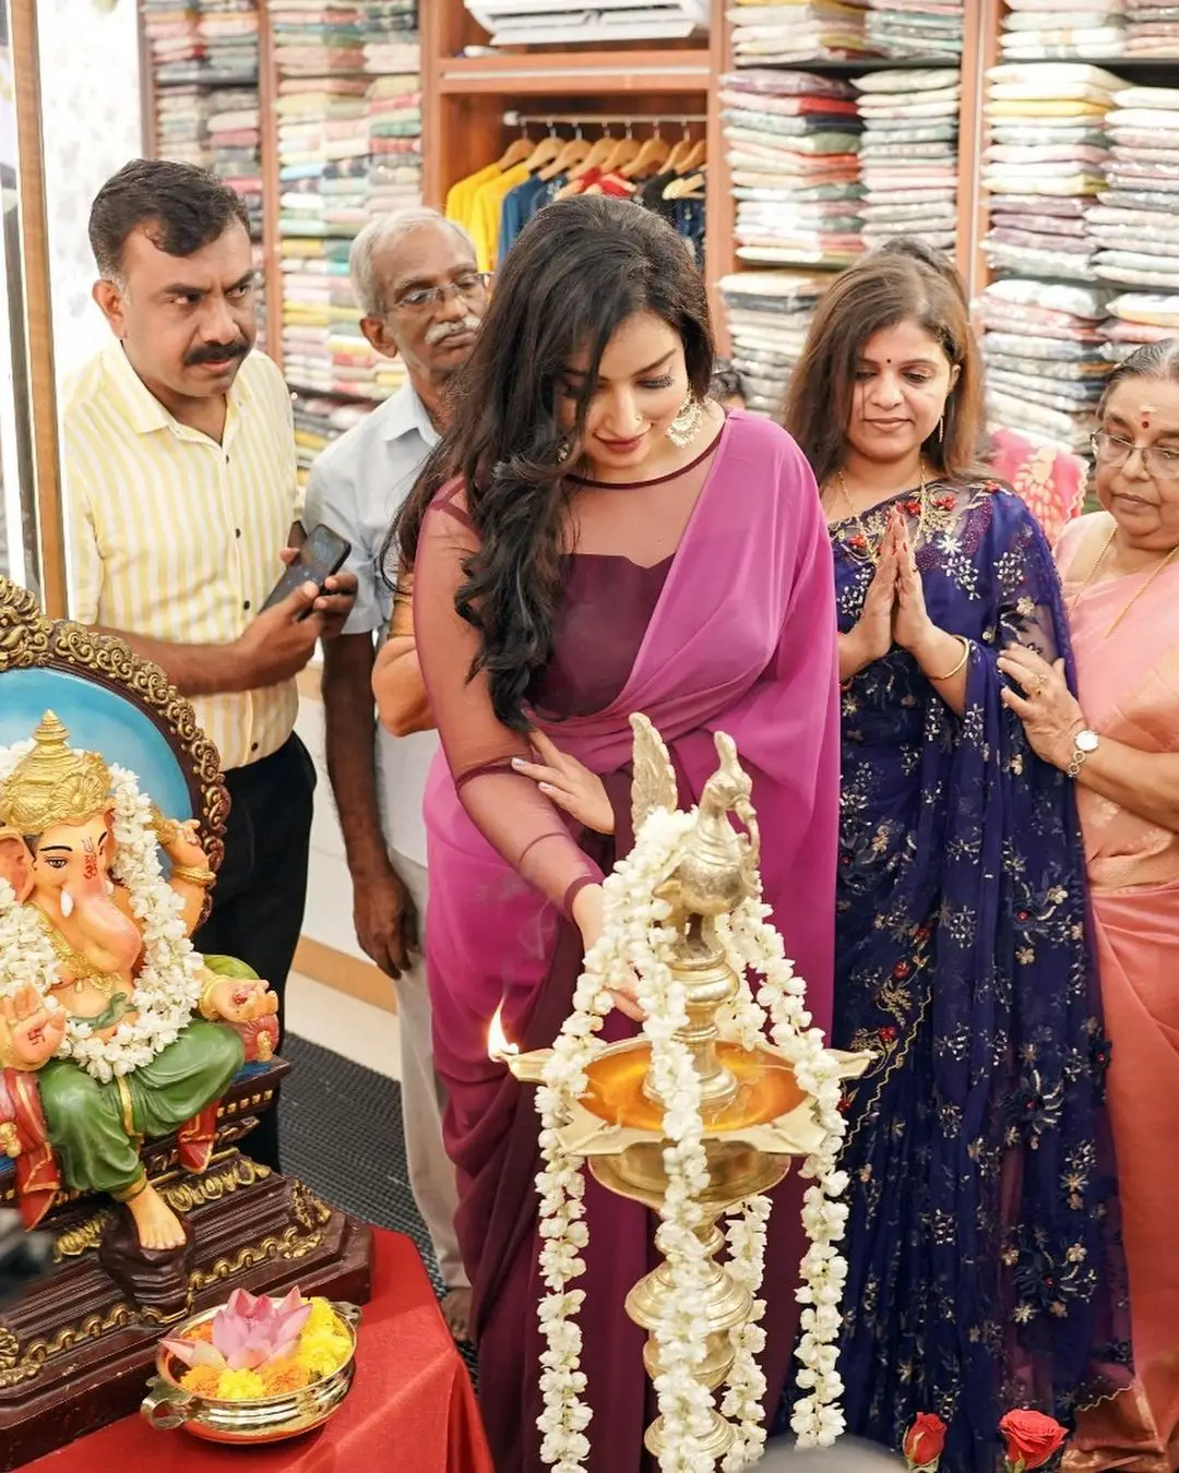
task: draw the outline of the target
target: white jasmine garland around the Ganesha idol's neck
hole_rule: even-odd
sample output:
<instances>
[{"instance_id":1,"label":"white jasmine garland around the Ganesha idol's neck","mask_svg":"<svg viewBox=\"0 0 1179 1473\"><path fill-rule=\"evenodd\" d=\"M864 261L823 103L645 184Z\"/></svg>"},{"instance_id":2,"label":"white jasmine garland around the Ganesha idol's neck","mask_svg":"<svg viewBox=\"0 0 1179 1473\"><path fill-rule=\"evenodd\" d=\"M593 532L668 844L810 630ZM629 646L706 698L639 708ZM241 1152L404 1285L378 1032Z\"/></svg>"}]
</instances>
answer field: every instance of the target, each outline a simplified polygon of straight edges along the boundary
<instances>
[{"instance_id":1,"label":"white jasmine garland around the Ganesha idol's neck","mask_svg":"<svg viewBox=\"0 0 1179 1473\"><path fill-rule=\"evenodd\" d=\"M9 776L32 742L0 747L0 782ZM140 792L134 773L111 767L115 813L112 878L127 891L131 913L143 932L143 966L131 991L131 1016L109 1040L87 1022L71 1018L57 1058L74 1059L87 1074L106 1083L149 1064L174 1043L200 1000L200 956L184 929L184 901L164 878L152 825L150 798ZM0 881L0 996L32 984L50 1006L60 985L57 959L34 907L19 904Z\"/></svg>"}]
</instances>

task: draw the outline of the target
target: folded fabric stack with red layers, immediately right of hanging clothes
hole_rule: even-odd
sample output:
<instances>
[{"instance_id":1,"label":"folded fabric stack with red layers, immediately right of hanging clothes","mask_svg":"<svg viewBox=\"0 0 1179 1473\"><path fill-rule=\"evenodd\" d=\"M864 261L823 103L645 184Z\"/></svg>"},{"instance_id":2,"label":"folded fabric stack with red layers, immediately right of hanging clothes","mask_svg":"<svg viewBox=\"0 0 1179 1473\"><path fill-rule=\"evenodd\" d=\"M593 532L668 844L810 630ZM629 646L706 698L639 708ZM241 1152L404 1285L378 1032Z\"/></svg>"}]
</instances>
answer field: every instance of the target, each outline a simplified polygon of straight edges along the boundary
<instances>
[{"instance_id":1,"label":"folded fabric stack with red layers, immediately right of hanging clothes","mask_svg":"<svg viewBox=\"0 0 1179 1473\"><path fill-rule=\"evenodd\" d=\"M864 250L855 90L809 72L721 78L737 199L737 256L762 265L850 265Z\"/></svg>"}]
</instances>

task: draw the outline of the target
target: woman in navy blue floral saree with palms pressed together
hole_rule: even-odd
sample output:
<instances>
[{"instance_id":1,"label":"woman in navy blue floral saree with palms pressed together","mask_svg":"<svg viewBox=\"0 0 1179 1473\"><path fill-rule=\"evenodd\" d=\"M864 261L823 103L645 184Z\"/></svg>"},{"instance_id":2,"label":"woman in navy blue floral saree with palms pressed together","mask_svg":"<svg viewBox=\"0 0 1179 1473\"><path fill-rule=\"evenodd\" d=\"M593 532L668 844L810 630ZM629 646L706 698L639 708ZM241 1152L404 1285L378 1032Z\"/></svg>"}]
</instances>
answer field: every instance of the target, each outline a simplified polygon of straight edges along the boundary
<instances>
[{"instance_id":1,"label":"woman in navy blue floral saree with palms pressed together","mask_svg":"<svg viewBox=\"0 0 1179 1473\"><path fill-rule=\"evenodd\" d=\"M824 493L840 629L834 1044L849 1093L849 1430L993 1473L1012 1407L1127 1382L1108 1062L1068 778L1004 709L1018 639L1067 657L1027 508L973 467L961 284L867 258L830 287L786 424Z\"/></svg>"}]
</instances>

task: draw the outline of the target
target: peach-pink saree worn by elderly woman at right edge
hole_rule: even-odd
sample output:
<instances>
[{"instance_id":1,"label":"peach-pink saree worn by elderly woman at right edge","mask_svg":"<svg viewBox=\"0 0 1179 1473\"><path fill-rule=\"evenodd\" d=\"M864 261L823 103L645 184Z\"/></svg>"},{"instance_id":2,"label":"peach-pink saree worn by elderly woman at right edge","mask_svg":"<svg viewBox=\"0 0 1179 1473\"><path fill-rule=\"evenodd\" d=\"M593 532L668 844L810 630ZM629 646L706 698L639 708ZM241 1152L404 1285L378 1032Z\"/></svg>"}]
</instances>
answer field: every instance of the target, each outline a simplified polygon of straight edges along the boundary
<instances>
[{"instance_id":1,"label":"peach-pink saree worn by elderly woman at right edge","mask_svg":"<svg viewBox=\"0 0 1179 1473\"><path fill-rule=\"evenodd\" d=\"M1101 523L1098 526L1098 523ZM1080 592L1105 513L1073 523L1057 557L1071 605L1077 695L1095 732L1142 751L1179 750L1179 567ZM1070 1469L1179 1467L1179 834L1077 785L1105 1027L1110 1115L1130 1276L1135 1386L1079 1418Z\"/></svg>"}]
</instances>

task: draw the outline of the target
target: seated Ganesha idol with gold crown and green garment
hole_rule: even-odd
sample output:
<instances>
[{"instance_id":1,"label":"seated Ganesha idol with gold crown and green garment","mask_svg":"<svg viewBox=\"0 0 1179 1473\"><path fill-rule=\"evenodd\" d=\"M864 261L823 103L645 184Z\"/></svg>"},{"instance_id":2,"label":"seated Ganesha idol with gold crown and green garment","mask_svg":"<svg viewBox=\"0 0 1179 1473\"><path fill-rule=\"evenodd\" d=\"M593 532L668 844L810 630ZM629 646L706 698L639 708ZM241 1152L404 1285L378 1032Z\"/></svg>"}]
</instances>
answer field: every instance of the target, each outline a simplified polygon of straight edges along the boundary
<instances>
[{"instance_id":1,"label":"seated Ganesha idol with gold crown and green garment","mask_svg":"<svg viewBox=\"0 0 1179 1473\"><path fill-rule=\"evenodd\" d=\"M192 947L212 882L196 823L161 818L52 711L0 747L0 1153L28 1226L62 1187L103 1192L147 1256L184 1246L140 1146L175 1133L203 1171L245 1040L268 1059L277 1037L267 982Z\"/></svg>"}]
</instances>

